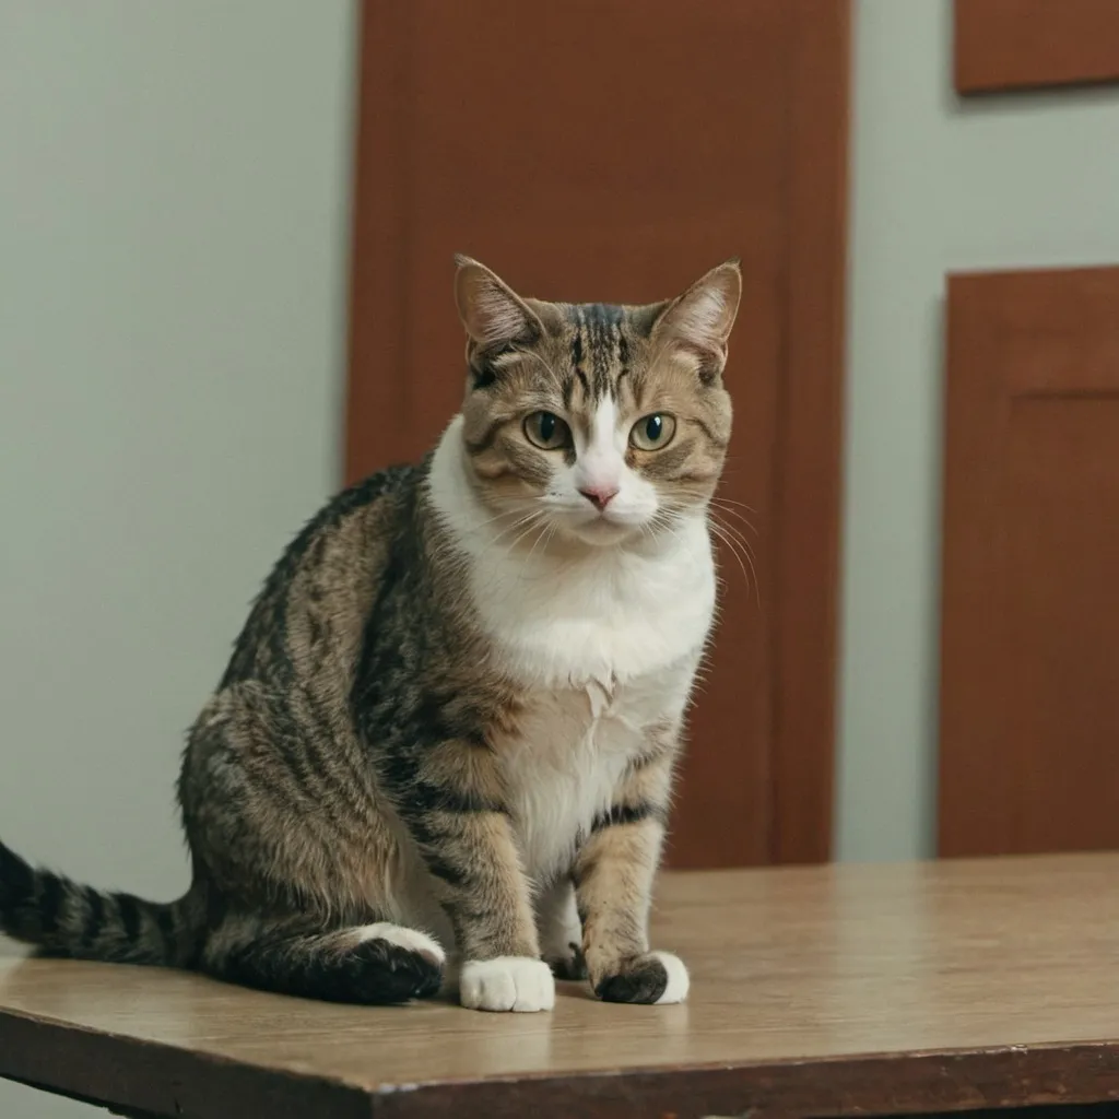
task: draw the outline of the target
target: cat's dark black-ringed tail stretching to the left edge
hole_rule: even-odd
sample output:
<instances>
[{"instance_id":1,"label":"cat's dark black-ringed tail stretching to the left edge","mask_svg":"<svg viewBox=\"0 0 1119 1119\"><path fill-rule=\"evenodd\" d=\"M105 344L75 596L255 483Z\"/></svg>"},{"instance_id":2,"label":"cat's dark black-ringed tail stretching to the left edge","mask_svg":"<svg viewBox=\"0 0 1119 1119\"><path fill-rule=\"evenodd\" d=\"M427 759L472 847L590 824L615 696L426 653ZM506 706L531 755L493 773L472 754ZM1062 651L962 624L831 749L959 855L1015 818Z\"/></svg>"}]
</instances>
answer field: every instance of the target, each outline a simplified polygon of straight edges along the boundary
<instances>
[{"instance_id":1,"label":"cat's dark black-ringed tail stretching to the left edge","mask_svg":"<svg viewBox=\"0 0 1119 1119\"><path fill-rule=\"evenodd\" d=\"M102 893L36 869L0 843L0 932L46 955L188 967L204 920L194 893L170 904Z\"/></svg>"}]
</instances>

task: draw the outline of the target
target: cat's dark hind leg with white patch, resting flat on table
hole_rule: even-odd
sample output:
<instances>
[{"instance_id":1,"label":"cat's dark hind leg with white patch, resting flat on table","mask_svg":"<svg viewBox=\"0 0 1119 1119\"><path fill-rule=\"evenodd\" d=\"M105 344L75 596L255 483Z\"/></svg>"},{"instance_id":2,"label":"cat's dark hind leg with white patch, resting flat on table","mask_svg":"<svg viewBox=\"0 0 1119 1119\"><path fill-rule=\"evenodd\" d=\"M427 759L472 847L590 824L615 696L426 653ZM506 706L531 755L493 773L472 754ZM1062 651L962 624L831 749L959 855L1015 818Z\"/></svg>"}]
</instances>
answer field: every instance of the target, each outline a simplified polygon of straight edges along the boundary
<instances>
[{"instance_id":1,"label":"cat's dark hind leg with white patch, resting flat on table","mask_svg":"<svg viewBox=\"0 0 1119 1119\"><path fill-rule=\"evenodd\" d=\"M227 915L210 934L201 970L281 995L367 1006L432 998L445 955L426 933L378 922L330 931Z\"/></svg>"}]
</instances>

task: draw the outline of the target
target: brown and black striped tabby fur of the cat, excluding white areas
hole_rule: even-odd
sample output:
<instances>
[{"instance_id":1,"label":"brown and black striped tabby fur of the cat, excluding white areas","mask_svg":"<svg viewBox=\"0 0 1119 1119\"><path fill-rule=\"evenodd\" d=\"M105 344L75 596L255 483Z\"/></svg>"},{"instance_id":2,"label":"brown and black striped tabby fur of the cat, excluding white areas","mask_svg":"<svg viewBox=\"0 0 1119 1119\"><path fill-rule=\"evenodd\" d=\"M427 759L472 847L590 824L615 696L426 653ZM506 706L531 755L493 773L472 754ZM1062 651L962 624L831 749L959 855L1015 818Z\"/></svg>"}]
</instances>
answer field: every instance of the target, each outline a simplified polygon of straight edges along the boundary
<instances>
[{"instance_id":1,"label":"brown and black striped tabby fur of the cat, excluding white areas","mask_svg":"<svg viewBox=\"0 0 1119 1119\"><path fill-rule=\"evenodd\" d=\"M478 267L462 262L460 280L477 282ZM463 311L463 441L479 496L548 486L557 452L528 442L527 414L585 429L609 398L624 430L650 411L676 417L666 449L626 452L667 509L708 497L730 439L720 375L737 271L692 291L704 283L725 312L717 329L688 318L688 295L642 308L521 301L485 273ZM646 927L679 721L646 730L610 809L571 837L571 884L530 882L504 758L526 700L493 667L429 470L430 459L393 468L340 493L265 582L184 754L187 895L161 905L98 893L0 844L0 929L62 956L393 1003L434 994L442 960L368 927L445 918L468 960L537 958L534 892L562 904L573 886L582 942L557 967L585 962L604 998L660 997ZM421 881L430 914L405 904Z\"/></svg>"}]
</instances>

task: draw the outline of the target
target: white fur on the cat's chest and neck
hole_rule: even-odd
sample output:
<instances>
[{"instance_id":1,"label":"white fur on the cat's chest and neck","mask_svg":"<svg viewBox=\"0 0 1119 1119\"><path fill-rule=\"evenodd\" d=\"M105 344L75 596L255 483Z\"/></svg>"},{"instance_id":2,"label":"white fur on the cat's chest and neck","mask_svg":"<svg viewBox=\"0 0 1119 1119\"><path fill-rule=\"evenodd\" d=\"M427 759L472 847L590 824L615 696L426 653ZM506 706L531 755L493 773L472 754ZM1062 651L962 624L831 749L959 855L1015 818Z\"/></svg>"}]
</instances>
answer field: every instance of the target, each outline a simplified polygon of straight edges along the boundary
<instances>
[{"instance_id":1,"label":"white fur on the cat's chest and neck","mask_svg":"<svg viewBox=\"0 0 1119 1119\"><path fill-rule=\"evenodd\" d=\"M540 877L610 806L648 727L686 705L714 611L711 542L697 510L640 549L511 552L467 480L458 426L436 452L432 497L469 558L496 667L525 688L517 740L501 754Z\"/></svg>"}]
</instances>

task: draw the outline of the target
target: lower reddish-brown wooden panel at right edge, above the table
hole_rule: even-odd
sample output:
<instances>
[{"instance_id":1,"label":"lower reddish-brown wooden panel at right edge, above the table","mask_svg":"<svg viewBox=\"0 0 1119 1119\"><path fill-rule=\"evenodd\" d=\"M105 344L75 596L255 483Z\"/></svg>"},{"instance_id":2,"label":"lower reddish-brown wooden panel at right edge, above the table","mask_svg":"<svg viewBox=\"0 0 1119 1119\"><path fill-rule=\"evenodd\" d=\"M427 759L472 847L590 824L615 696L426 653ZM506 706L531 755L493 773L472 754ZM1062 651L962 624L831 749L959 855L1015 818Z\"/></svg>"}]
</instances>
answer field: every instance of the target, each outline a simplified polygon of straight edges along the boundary
<instances>
[{"instance_id":1,"label":"lower reddish-brown wooden panel at right edge, above the table","mask_svg":"<svg viewBox=\"0 0 1119 1119\"><path fill-rule=\"evenodd\" d=\"M1119 847L1119 269L951 278L940 850Z\"/></svg>"}]
</instances>

